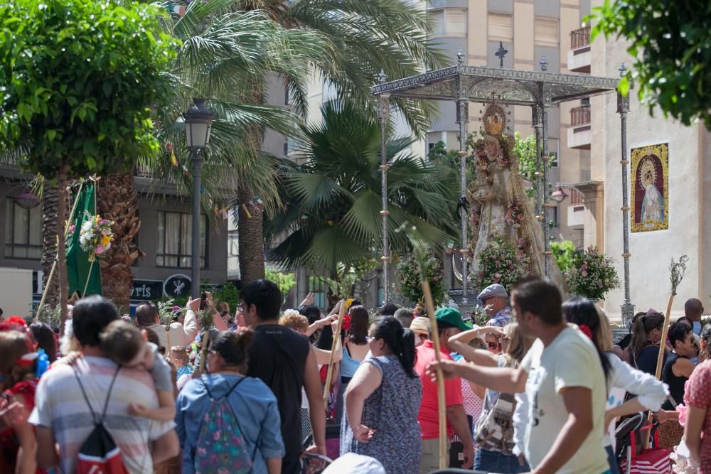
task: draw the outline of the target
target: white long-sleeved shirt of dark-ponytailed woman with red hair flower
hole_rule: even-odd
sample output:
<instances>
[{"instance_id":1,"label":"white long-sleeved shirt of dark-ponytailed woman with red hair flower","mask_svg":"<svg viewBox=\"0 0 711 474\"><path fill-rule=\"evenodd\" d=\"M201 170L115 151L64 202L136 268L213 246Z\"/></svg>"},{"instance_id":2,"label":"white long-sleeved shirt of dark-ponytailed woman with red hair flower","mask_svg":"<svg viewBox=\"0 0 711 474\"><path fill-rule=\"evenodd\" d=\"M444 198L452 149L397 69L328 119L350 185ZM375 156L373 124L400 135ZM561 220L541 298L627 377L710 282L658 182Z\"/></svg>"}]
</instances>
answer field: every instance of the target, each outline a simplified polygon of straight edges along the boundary
<instances>
[{"instance_id":1,"label":"white long-sleeved shirt of dark-ponytailed woman with red hair flower","mask_svg":"<svg viewBox=\"0 0 711 474\"><path fill-rule=\"evenodd\" d=\"M638 402L646 409L658 411L669 394L667 384L646 372L636 370L611 352L606 356L611 365L606 409L621 405L624 402L624 392L629 392L637 395ZM604 446L612 446L614 426L613 422L605 427Z\"/></svg>"}]
</instances>

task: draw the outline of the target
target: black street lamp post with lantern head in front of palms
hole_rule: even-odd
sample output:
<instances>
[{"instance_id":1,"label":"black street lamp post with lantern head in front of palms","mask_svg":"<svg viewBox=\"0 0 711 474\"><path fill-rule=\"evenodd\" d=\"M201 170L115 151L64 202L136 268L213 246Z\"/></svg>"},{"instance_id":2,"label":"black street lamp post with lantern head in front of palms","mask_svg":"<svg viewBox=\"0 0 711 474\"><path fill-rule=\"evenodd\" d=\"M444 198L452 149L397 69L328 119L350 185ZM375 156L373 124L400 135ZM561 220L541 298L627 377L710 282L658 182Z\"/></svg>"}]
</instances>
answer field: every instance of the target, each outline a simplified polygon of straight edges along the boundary
<instances>
[{"instance_id":1,"label":"black street lamp post with lantern head in front of palms","mask_svg":"<svg viewBox=\"0 0 711 474\"><path fill-rule=\"evenodd\" d=\"M192 268L191 297L198 298L200 293L200 191L202 153L210 142L210 128L213 126L213 112L205 107L205 99L193 99L193 107L183 114L185 131L188 138L188 150L193 161L193 230L192 230Z\"/></svg>"}]
</instances>

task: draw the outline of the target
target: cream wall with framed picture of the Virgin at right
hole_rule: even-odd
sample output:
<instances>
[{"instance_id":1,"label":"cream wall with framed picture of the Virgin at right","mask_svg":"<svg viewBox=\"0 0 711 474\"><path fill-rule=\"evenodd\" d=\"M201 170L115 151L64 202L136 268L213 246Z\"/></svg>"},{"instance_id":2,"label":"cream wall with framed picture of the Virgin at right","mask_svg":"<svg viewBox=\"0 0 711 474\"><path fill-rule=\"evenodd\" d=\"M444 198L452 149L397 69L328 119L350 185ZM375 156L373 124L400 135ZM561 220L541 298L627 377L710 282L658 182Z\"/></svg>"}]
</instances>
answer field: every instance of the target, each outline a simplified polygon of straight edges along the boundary
<instances>
[{"instance_id":1,"label":"cream wall with framed picture of the Virgin at right","mask_svg":"<svg viewBox=\"0 0 711 474\"><path fill-rule=\"evenodd\" d=\"M602 4L602 0L594 0ZM621 63L632 58L623 41L599 36L592 43L592 74L617 77ZM629 95L624 164L629 177L630 295L635 311L666 311L670 293L669 264L682 254L689 257L686 273L674 300L672 316L683 316L688 298L707 304L711 295L711 134L703 124L685 126L653 115L641 104L636 90ZM599 183L604 210L594 216L589 239L602 241L622 279L622 169L620 118L616 95L593 97L592 180ZM656 202L656 203L655 203ZM658 211L652 212L653 204ZM644 208L646 207L646 210ZM605 309L619 316L624 289L609 293Z\"/></svg>"}]
</instances>

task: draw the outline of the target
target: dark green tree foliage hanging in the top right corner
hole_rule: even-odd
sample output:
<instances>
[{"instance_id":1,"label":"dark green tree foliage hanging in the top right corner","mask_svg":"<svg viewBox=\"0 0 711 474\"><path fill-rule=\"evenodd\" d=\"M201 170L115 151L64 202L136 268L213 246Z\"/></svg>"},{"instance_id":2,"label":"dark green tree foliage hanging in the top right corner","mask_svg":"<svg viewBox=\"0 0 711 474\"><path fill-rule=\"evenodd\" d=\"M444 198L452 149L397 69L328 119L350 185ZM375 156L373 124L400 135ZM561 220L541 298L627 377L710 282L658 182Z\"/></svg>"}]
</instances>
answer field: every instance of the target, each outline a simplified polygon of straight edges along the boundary
<instances>
[{"instance_id":1,"label":"dark green tree foliage hanging in the top right corner","mask_svg":"<svg viewBox=\"0 0 711 474\"><path fill-rule=\"evenodd\" d=\"M711 3L707 0L605 0L593 9L592 39L602 33L629 43L632 77L650 113L659 106L689 125L711 129ZM620 91L627 94L624 77Z\"/></svg>"}]
</instances>

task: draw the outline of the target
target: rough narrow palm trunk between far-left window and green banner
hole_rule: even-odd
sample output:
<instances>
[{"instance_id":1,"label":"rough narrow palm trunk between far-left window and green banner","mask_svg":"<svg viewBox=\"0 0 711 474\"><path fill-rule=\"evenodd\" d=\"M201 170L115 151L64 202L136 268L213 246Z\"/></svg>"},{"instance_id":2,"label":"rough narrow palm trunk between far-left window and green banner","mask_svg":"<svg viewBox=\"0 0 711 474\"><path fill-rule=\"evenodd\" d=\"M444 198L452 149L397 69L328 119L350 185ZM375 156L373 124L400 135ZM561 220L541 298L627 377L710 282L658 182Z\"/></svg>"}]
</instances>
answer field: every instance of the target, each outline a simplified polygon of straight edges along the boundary
<instances>
[{"instance_id":1,"label":"rough narrow palm trunk between far-left window and green banner","mask_svg":"<svg viewBox=\"0 0 711 474\"><path fill-rule=\"evenodd\" d=\"M49 280L52 266L57 259L57 235L59 234L58 213L59 189L45 181L42 190L42 287L46 289L45 304L56 308L59 306L59 272L55 269L52 280ZM65 209L69 208L65 203ZM65 215L64 220L67 219Z\"/></svg>"}]
</instances>

